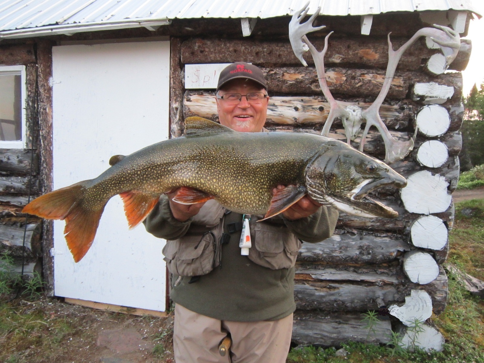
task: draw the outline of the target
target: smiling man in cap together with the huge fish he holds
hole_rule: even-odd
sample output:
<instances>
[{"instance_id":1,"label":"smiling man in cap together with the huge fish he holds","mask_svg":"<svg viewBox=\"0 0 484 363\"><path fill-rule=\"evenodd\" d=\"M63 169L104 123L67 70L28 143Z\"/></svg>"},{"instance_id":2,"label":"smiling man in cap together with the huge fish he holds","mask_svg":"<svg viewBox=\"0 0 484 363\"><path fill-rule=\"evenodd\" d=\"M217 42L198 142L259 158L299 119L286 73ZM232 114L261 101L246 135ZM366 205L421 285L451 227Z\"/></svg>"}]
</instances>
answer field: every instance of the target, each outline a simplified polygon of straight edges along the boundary
<instances>
[{"instance_id":1,"label":"smiling man in cap together with the huge fish he holds","mask_svg":"<svg viewBox=\"0 0 484 363\"><path fill-rule=\"evenodd\" d=\"M407 181L341 141L267 132L269 96L256 66L225 68L216 97L220 124L189 117L182 137L115 155L97 178L37 197L22 212L64 220L79 262L106 203L120 195L130 228L144 221L167 240L177 361L285 362L300 241L332 235L338 212L327 206L396 218L368 194Z\"/></svg>"}]
</instances>

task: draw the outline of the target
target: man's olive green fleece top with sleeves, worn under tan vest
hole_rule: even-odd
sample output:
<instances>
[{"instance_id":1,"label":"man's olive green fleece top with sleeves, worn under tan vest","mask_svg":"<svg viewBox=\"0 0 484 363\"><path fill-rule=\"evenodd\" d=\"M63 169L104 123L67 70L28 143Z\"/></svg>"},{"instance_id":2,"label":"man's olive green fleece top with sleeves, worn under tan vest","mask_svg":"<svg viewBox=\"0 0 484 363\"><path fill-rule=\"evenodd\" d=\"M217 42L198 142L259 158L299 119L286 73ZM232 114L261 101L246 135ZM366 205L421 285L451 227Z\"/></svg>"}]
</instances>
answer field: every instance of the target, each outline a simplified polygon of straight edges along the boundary
<instances>
[{"instance_id":1,"label":"man's olive green fleece top with sleeves, worn under tan vest","mask_svg":"<svg viewBox=\"0 0 484 363\"><path fill-rule=\"evenodd\" d=\"M285 224L287 232L300 240L319 242L333 234L338 212L321 207L307 218L275 219L258 223ZM189 232L192 221L193 218L186 222L176 220L167 197L163 196L144 223L154 236L176 240ZM229 212L224 219L224 232L229 233L228 224L241 221L242 214ZM179 276L173 275L171 299L198 314L220 320L261 321L287 317L296 309L294 267L271 270L257 265L241 255L240 236L241 231L230 234L229 242L222 246L221 265L200 276L198 281L189 284L191 277L183 277L174 286Z\"/></svg>"}]
</instances>

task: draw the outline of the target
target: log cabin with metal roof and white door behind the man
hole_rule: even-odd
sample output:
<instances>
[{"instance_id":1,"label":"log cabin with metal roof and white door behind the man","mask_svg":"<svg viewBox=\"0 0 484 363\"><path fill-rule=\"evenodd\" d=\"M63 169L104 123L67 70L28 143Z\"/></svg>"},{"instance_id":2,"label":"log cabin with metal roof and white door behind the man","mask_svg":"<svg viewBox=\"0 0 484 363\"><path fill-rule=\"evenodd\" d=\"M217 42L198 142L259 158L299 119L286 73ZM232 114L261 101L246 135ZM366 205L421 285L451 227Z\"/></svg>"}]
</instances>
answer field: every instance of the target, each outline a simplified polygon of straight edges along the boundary
<instances>
[{"instance_id":1,"label":"log cabin with metal roof and white door behind the man","mask_svg":"<svg viewBox=\"0 0 484 363\"><path fill-rule=\"evenodd\" d=\"M21 213L33 197L97 176L109 157L183 133L183 121L217 121L218 72L234 61L265 73L271 96L270 130L320 134L330 106L309 53L304 67L289 42L291 16L305 1L53 0L5 1L0 6L0 253L22 273L41 272L47 293L140 314L165 311L169 276L163 241L142 228L127 231L121 202L111 200L96 243L75 264L63 223ZM310 1L309 15L318 1ZM366 109L378 96L389 61L388 33L397 49L433 24L460 37L480 17L468 0L326 1L309 35L317 49L329 39L326 80L334 98ZM430 7L429 7L430 6ZM387 343L391 332L425 349L444 342L430 321L446 305L443 268L452 229L462 75L471 52L446 64L422 37L402 55L379 115L391 136L413 150L391 166L408 178L402 191L380 188L373 197L399 212L395 220L341 214L335 234L303 243L296 268L293 341L340 346ZM341 120L329 136L346 141ZM360 139L352 141L359 146ZM364 152L385 157L382 136L370 130ZM113 198L115 199L115 198ZM134 308L134 309L132 309ZM368 334L362 313L378 311ZM425 333L408 333L414 319ZM410 335L408 335L410 334Z\"/></svg>"}]
</instances>

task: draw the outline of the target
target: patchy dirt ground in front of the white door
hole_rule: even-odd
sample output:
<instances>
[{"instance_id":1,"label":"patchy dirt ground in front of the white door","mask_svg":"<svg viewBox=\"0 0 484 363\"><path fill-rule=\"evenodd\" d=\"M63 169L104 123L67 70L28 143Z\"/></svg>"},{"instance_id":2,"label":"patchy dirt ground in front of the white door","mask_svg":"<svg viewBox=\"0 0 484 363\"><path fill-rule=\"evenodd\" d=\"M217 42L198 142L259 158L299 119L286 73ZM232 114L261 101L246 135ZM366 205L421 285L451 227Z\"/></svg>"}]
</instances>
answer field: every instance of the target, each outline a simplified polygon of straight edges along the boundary
<instances>
[{"instance_id":1,"label":"patchy dirt ground in front of the white door","mask_svg":"<svg viewBox=\"0 0 484 363\"><path fill-rule=\"evenodd\" d=\"M18 300L18 328L0 334L0 362L174 363L173 316L112 313L57 298ZM36 320L35 320L36 319ZM23 322L30 326L22 326ZM31 329L37 323L38 329ZM44 325L43 325L44 324Z\"/></svg>"}]
</instances>

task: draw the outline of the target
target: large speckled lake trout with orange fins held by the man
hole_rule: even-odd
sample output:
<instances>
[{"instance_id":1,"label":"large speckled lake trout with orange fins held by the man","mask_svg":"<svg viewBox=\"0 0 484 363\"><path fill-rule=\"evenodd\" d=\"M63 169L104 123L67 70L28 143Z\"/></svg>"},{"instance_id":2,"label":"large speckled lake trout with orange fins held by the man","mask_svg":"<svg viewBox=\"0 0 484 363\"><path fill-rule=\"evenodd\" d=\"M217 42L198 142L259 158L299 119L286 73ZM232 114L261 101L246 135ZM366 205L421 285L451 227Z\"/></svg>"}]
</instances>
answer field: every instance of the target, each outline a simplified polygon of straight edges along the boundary
<instances>
[{"instance_id":1,"label":"large speckled lake trout with orange fins held by the man","mask_svg":"<svg viewBox=\"0 0 484 363\"><path fill-rule=\"evenodd\" d=\"M242 133L198 117L186 119L184 136L116 155L109 164L97 178L47 193L23 209L65 220L65 238L76 262L89 250L107 201L117 194L134 228L161 194L179 187L173 199L179 203L214 198L228 210L265 218L306 194L343 212L394 218L397 212L366 195L383 185L407 184L383 162L328 137ZM272 196L280 184L288 187Z\"/></svg>"}]
</instances>

